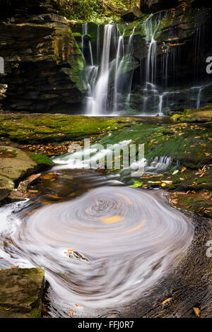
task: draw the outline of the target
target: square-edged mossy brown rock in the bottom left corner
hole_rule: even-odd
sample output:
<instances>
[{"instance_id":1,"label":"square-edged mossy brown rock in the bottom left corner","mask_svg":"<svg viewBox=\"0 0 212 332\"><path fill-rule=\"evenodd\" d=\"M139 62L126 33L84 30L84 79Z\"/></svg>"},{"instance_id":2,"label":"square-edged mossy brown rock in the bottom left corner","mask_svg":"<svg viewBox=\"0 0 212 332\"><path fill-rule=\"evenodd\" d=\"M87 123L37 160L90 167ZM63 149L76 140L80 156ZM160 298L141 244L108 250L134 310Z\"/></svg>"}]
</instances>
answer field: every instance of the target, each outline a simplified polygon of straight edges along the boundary
<instances>
[{"instance_id":1,"label":"square-edged mossy brown rock in the bottom left corner","mask_svg":"<svg viewBox=\"0 0 212 332\"><path fill-rule=\"evenodd\" d=\"M0 318L41 316L43 268L9 268L0 271Z\"/></svg>"}]
</instances>

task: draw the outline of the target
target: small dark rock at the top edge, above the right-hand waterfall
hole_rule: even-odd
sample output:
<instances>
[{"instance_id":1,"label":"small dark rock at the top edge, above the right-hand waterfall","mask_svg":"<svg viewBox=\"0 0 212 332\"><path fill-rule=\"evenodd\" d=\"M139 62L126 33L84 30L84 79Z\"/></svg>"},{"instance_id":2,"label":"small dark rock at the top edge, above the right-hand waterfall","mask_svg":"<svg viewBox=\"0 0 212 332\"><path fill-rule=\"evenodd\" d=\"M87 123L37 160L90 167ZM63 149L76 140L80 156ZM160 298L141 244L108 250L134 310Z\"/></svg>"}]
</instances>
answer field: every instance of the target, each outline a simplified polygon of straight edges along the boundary
<instances>
[{"instance_id":1,"label":"small dark rock at the top edge, above the right-hand waterfall","mask_svg":"<svg viewBox=\"0 0 212 332\"><path fill-rule=\"evenodd\" d=\"M141 0L141 11L143 13L153 13L167 8L173 8L177 5L177 0Z\"/></svg>"}]
</instances>

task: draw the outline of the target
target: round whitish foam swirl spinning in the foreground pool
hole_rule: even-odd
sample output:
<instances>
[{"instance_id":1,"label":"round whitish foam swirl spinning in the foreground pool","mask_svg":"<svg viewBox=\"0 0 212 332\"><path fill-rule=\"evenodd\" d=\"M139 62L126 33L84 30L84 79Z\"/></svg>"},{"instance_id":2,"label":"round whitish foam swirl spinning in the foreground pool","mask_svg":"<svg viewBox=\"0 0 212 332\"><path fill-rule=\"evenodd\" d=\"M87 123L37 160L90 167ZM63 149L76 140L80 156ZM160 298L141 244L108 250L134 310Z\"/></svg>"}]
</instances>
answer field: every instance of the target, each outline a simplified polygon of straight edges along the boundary
<instances>
[{"instance_id":1,"label":"round whitish foam swirl spinning in the foreground pool","mask_svg":"<svg viewBox=\"0 0 212 332\"><path fill-rule=\"evenodd\" d=\"M194 228L153 194L104 186L41 208L13 239L47 271L57 302L130 302L177 266ZM65 252L65 254L64 254Z\"/></svg>"}]
</instances>

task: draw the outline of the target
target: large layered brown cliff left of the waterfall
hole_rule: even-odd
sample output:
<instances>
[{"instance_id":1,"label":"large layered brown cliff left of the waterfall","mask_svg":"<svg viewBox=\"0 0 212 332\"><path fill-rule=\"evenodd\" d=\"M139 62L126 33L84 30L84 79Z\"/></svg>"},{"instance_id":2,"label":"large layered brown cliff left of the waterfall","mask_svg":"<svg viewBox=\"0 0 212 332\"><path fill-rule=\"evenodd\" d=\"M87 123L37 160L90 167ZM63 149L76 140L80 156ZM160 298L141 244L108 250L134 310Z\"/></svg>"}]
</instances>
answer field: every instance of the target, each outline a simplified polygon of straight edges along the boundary
<instances>
[{"instance_id":1,"label":"large layered brown cliff left of the waterfall","mask_svg":"<svg viewBox=\"0 0 212 332\"><path fill-rule=\"evenodd\" d=\"M14 5L16 15L0 21L0 54L5 65L0 83L8 85L3 108L41 113L76 111L86 92L86 76L68 21L51 7L48 13L48 6L40 6L40 1L33 1L33 8L18 4ZM39 15L36 8L41 11Z\"/></svg>"}]
</instances>

